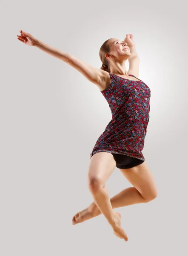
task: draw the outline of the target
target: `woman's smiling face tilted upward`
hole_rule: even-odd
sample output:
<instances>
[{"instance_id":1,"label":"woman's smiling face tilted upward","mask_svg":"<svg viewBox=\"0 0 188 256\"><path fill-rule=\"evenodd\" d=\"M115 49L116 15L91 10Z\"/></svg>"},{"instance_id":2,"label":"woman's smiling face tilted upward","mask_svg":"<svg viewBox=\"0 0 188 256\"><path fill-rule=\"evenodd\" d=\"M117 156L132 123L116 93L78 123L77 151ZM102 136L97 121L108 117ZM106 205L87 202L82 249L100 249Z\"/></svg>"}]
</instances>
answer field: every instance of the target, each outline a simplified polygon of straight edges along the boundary
<instances>
[{"instance_id":1,"label":"woman's smiling face tilted upward","mask_svg":"<svg viewBox=\"0 0 188 256\"><path fill-rule=\"evenodd\" d=\"M111 38L109 40L109 43L111 44L111 51L110 55L122 59L128 59L128 57L131 55L130 49L127 46L127 43L124 41L120 41L116 38Z\"/></svg>"}]
</instances>

